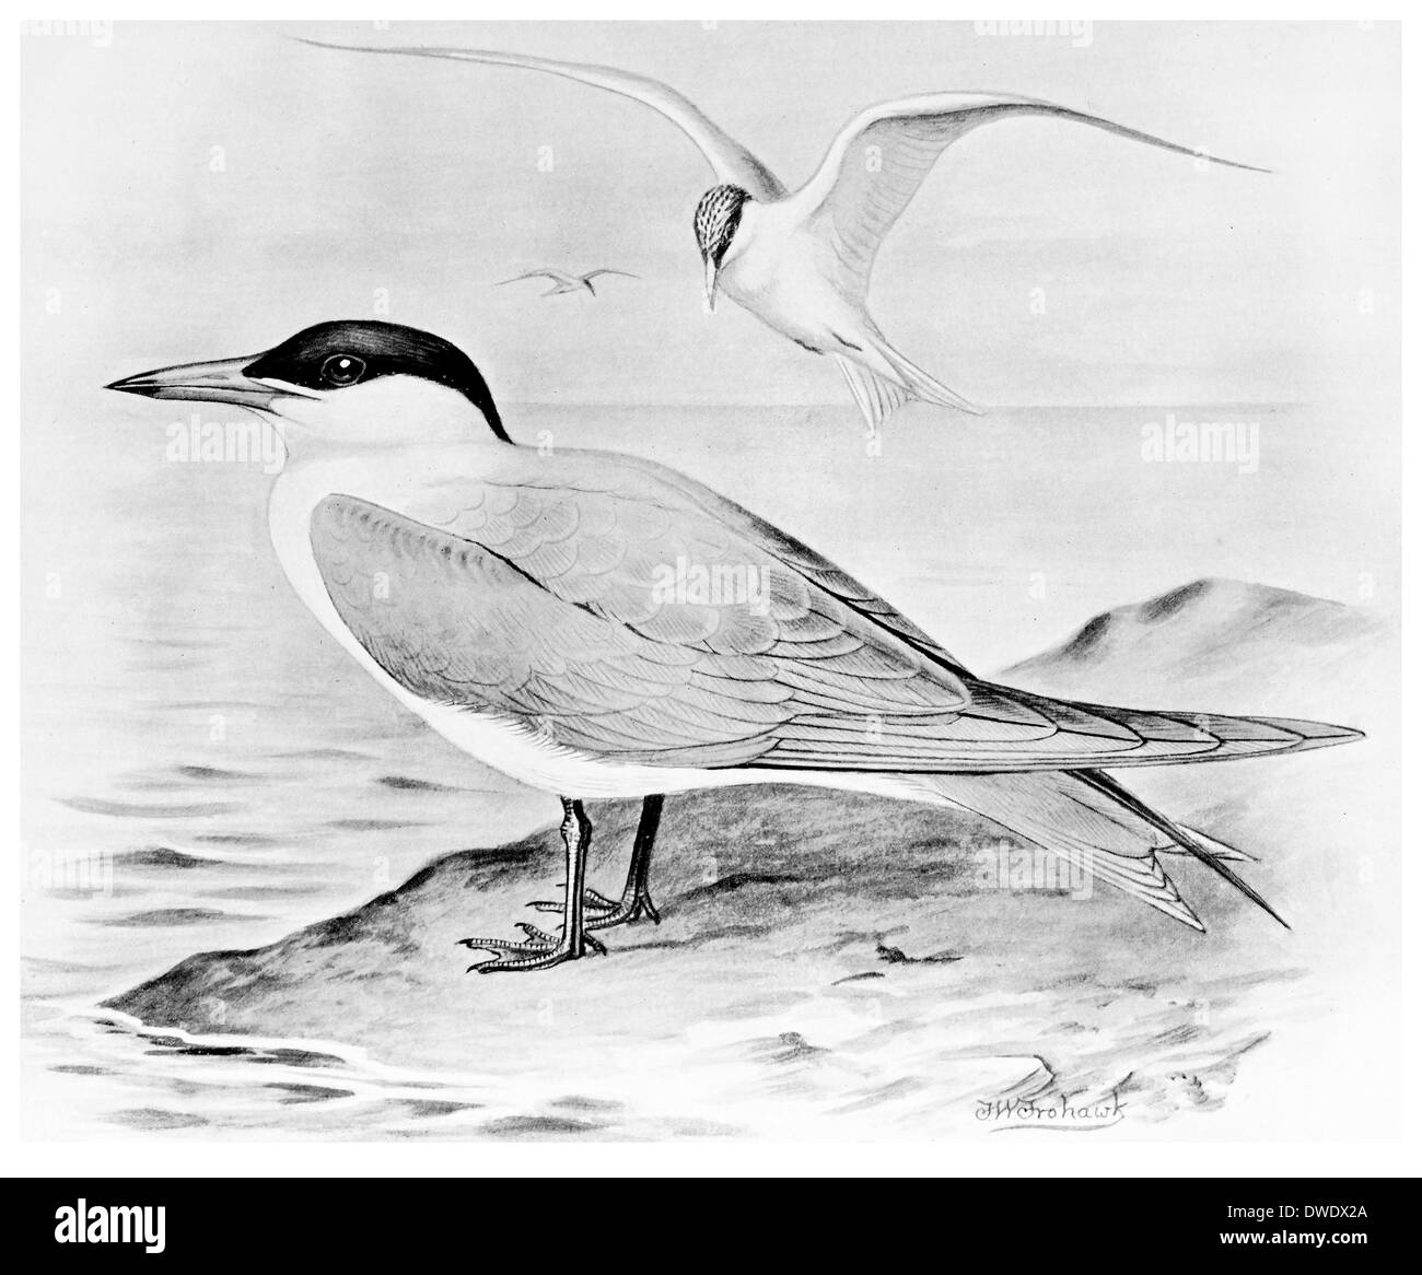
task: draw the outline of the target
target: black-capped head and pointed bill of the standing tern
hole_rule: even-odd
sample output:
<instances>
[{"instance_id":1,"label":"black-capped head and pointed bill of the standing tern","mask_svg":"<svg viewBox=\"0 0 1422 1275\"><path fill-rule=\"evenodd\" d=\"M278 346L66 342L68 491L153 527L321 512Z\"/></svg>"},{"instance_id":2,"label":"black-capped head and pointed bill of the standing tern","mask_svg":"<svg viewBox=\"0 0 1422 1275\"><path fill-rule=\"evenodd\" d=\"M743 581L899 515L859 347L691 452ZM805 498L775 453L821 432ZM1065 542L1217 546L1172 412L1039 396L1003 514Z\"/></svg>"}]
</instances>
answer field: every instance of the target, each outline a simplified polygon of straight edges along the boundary
<instances>
[{"instance_id":1,"label":"black-capped head and pointed bill of the standing tern","mask_svg":"<svg viewBox=\"0 0 1422 1275\"><path fill-rule=\"evenodd\" d=\"M319 323L264 354L139 372L107 388L249 408L276 424L289 452L491 431L509 441L469 357L441 337L397 323Z\"/></svg>"}]
</instances>

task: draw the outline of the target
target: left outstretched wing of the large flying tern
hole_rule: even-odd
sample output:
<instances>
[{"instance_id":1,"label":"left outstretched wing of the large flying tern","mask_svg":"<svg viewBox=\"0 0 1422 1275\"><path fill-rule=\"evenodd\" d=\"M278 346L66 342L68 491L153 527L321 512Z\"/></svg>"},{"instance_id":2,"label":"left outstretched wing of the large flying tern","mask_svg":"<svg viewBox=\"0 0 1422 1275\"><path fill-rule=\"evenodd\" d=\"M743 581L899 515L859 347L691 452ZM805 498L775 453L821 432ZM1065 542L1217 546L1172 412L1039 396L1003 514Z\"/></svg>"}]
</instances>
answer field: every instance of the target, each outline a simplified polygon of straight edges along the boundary
<instances>
[{"instance_id":1,"label":"left outstretched wing of the large flying tern","mask_svg":"<svg viewBox=\"0 0 1422 1275\"><path fill-rule=\"evenodd\" d=\"M375 48L361 44L330 44L324 40L301 40L317 48L340 48L350 53L394 53L407 57L449 58L458 63L486 63L495 67L518 67L525 71L546 71L603 88L651 107L677 125L710 161L717 178L742 186L757 199L782 199L785 186L759 159L735 138L722 132L691 101L660 80L599 67L587 63L560 63L552 58L525 57L519 53L499 53L488 48Z\"/></svg>"}]
</instances>

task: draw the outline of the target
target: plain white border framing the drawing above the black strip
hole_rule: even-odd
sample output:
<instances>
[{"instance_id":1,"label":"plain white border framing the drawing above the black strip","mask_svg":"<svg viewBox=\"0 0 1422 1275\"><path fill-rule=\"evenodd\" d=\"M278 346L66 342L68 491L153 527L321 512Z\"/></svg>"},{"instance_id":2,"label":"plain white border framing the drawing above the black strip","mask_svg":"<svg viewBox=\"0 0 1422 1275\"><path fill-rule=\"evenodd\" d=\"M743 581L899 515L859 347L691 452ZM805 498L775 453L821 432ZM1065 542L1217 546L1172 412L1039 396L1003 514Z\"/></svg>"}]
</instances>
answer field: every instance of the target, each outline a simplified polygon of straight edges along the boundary
<instances>
[{"instance_id":1,"label":"plain white border framing the drawing above the black strip","mask_svg":"<svg viewBox=\"0 0 1422 1275\"><path fill-rule=\"evenodd\" d=\"M1139 9L1121 3L1098 6L1105 11L1091 14L1096 21L1138 20ZM1384 11L1372 14L1376 21L1395 21L1401 18L1402 6L1379 6ZM456 21L472 17L472 6L455 3L437 3L422 6L421 20ZM650 18L664 20L668 16L665 0L661 3L607 3L597 7L599 18ZM1241 9L1247 13L1241 14ZM685 10L681 10L683 13ZM191 20L191 9L172 3L139 6L129 18L144 20ZM715 0L702 3L700 13L687 13L685 18L701 20L715 17L720 21L734 21L737 18L855 18L863 17L865 7L838 3L838 0L820 0L811 3L747 3L747 0ZM60 14L31 14L33 18L58 20ZM75 14L70 14L75 17ZM233 18L242 20L286 20L290 10L276 4L250 4ZM336 20L380 20L388 18L385 6L370 6L347 3L341 6L330 3L304 6L303 21L336 21ZM590 20L587 7L572 3L547 3L547 0L522 0L519 4L479 6L478 17L482 20ZM958 6L923 3L880 3L873 7L873 18L931 18L937 21L951 20L985 20L985 18L1024 18L1031 14L1001 13L994 14L987 6L975 11L963 11ZM1061 18L1061 14L1051 14ZM1153 11L1152 20L1177 18L1196 21L1219 21L1247 17L1254 21L1355 21L1357 11L1345 6L1324 6L1310 3L1283 4L1224 4L1220 0L1196 0L1189 6L1187 13ZM18 30L11 28L18 38ZM1404 58L1408 67L1416 65L1415 40L1412 33L1404 27ZM14 65L14 61L10 61ZM1408 99L1415 98L1411 92L1409 77L1404 74L1404 118ZM18 112L17 94L6 95L4 112L7 117L7 132L11 136L11 155L18 154ZM1308 127L1307 119L1300 121L1301 128ZM1413 178L1415 152L1404 146L1404 209L1415 208ZM1327 163L1327 155L1320 155L1318 162ZM17 199L7 205L7 216L11 222L11 243L20 239L17 217ZM1408 222L1404 220L1404 226ZM1416 254L1411 244L1404 246L1405 294L1413 294L1411 284L1416 270ZM14 297L20 297L17 262ZM14 310L10 311L7 323L18 328ZM1415 351L1411 344L1411 324L1404 317L1402 348ZM16 428L20 421L18 414L18 331L4 341L4 358L9 367L7 384L14 387L14 416L10 428ZM1404 374L1404 421L1408 421L1406 407L1416 401L1415 380L1416 360L1405 358ZM1416 495L1416 445L1411 436L1405 443L1404 461L1404 510L1409 509L1411 496ZM11 507L18 510L18 466L11 465L7 475L10 486ZM18 530L18 529L16 529ZM1411 552L1411 533L1413 520L1405 522L1404 534L1404 579L1411 584L1413 553ZM18 552L18 536L16 536ZM16 564L14 579L26 583ZM13 594L11 594L13 596ZM18 733L18 617L17 608L6 608L6 625L3 641L6 652L16 669L10 681L9 692L13 696L10 706L16 718L16 733ZM1413 607L1411 593L1405 598L1405 631L1415 631ZM1405 708L1416 706L1416 678L1411 668L1404 672ZM1412 721L1415 712L1406 712L1405 719ZM7 753L4 766L4 783L9 793L9 809L18 820L18 758L16 752ZM1404 773L1422 773L1418 766L1416 749L1409 736L1404 749ZM11 824L16 827L16 824ZM1416 820L1405 817L1404 846L1415 850ZM16 827L16 837L18 830ZM1405 856L1406 857L1406 856ZM1415 861L1406 864L1405 894L1411 901L1418 895L1418 866ZM4 856L4 874L9 881L9 898L16 907L18 898L18 866L20 856ZM11 922L16 913L10 913ZM7 995L3 998L3 1012L6 1038L9 1049L4 1053L4 1063L0 1065L0 1110L6 1113L0 1117L0 1147L3 1147L3 1168L7 1176L114 1176L114 1177L478 1177L481 1164L491 1167L498 1164L499 1176L545 1176L549 1168L549 1148L543 1146L510 1146L506 1143L419 1143L401 1144L394 1141L380 1143L250 1143L250 1141L210 1141L199 1143L191 1139L182 1141L135 1140L111 1143L21 1143L18 1140L18 927L13 927L13 942L10 944L9 959L4 961L4 986ZM1314 1144L1274 1144L1274 1143L1112 1143L1091 1144L1085 1140L1072 1139L1062 1144L1042 1144L1034 1140L1031 1147L1021 1141L980 1140L964 1144L947 1143L805 1143L779 1144L757 1141L715 1141L715 1143L667 1143L667 1144L606 1144L606 1143L573 1143L562 1144L557 1153L557 1164L562 1176L587 1174L597 1177L627 1177L627 1176L691 1176L691 1177L899 1177L899 1176L933 1176L933 1177L1015 1177L1015 1176L1055 1176L1055 1177L1099 1177L1129 1174L1133 1177L1315 1177L1315 1176L1415 1176L1419 1168L1419 1116L1416 1103L1411 1100L1408 1092L1408 1077L1412 1060L1422 1056L1418 1040L1416 1005L1419 998L1418 977L1418 940L1411 927L1405 927L1405 982L1404 1002L1408 1006L1408 1021L1405 1023L1405 1038L1402 1055L1398 1059L1396 1075L1399 1090L1392 1094L1361 1094L1359 1100L1391 1103L1398 1112L1399 1140L1396 1143L1314 1143ZM1345 954L1340 954L1344 959ZM833 1154L842 1151L843 1154Z\"/></svg>"}]
</instances>

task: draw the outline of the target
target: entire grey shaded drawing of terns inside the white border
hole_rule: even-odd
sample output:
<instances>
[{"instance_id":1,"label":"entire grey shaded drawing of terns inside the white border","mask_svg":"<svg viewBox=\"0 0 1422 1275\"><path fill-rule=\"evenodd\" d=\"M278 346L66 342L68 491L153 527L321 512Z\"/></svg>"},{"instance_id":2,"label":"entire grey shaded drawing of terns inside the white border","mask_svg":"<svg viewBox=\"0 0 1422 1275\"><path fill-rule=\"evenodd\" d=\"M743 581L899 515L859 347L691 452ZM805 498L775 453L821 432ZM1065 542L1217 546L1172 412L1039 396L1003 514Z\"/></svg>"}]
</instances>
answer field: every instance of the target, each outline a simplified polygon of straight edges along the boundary
<instances>
[{"instance_id":1,"label":"entire grey shaded drawing of terns inside the white border","mask_svg":"<svg viewBox=\"0 0 1422 1275\"><path fill-rule=\"evenodd\" d=\"M1075 26L23 41L27 1137L1388 1136L1399 41Z\"/></svg>"}]
</instances>

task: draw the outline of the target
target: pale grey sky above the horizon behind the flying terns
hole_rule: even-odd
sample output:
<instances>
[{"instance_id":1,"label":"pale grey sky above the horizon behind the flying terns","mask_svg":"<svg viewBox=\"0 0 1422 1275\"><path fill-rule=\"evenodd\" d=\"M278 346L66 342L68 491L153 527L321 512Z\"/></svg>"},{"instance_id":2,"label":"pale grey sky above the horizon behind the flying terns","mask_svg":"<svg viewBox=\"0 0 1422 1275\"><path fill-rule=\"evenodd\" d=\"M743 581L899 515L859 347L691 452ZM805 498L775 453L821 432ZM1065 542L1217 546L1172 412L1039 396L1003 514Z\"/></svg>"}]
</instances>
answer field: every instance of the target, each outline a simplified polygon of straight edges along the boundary
<instances>
[{"instance_id":1,"label":"pale grey sky above the horizon behind the flying terns","mask_svg":"<svg viewBox=\"0 0 1422 1275\"><path fill-rule=\"evenodd\" d=\"M503 401L839 404L826 360L702 313L711 173L646 107L555 77L284 38L465 44L673 84L792 188L865 105L988 88L995 124L892 232L872 308L984 405L1340 401L1395 384L1399 41L1388 24L142 24L23 41L31 368L91 382L334 317L455 340ZM613 266L542 298L526 269ZM60 313L55 314L55 297ZM47 321L57 320L57 321ZM87 364L102 362L92 372Z\"/></svg>"}]
</instances>

